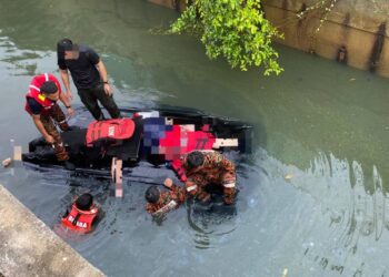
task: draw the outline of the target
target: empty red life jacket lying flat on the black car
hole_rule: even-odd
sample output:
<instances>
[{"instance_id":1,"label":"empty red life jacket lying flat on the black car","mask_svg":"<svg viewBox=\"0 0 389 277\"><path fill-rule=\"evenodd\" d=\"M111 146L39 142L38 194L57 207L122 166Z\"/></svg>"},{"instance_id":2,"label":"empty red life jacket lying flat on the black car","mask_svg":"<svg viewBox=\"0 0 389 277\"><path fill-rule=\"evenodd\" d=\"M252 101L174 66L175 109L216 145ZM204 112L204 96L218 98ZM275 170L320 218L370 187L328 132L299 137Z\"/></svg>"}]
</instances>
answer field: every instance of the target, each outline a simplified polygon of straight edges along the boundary
<instances>
[{"instance_id":1,"label":"empty red life jacket lying flat on the black car","mask_svg":"<svg viewBox=\"0 0 389 277\"><path fill-rule=\"evenodd\" d=\"M133 134L136 124L130 119L117 119L108 121L93 121L87 131L87 146L103 138L126 140Z\"/></svg>"}]
</instances>

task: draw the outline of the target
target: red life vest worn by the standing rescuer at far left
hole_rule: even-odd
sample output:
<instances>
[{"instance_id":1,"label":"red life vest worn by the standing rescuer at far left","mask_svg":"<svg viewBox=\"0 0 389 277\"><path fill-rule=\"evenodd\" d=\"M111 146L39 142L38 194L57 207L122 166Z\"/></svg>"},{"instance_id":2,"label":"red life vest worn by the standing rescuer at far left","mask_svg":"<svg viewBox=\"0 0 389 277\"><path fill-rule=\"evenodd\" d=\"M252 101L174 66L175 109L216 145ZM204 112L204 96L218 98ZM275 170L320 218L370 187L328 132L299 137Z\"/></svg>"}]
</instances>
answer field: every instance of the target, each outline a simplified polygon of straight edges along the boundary
<instances>
[{"instance_id":1,"label":"red life vest worn by the standing rescuer at far left","mask_svg":"<svg viewBox=\"0 0 389 277\"><path fill-rule=\"evenodd\" d=\"M39 104L42 105L43 110L41 113L47 113L56 104L56 102L49 100L43 93L40 93L40 86L47 81L53 81L61 95L61 84L59 83L58 79L54 75L49 73L34 76L29 85L29 91L26 94L26 99L28 98L34 99ZM29 114L32 114L28 103L26 103L24 110Z\"/></svg>"}]
</instances>

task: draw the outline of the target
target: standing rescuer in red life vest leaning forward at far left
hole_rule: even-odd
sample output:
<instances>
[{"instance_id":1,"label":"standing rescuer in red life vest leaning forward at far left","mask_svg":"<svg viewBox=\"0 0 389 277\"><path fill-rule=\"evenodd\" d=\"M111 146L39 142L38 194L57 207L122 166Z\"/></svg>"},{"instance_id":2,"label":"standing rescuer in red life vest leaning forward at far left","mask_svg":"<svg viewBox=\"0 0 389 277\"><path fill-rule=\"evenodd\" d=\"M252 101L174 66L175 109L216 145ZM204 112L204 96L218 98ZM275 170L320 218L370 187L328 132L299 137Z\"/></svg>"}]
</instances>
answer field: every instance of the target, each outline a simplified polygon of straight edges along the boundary
<instances>
[{"instance_id":1,"label":"standing rescuer in red life vest leaning forward at far left","mask_svg":"<svg viewBox=\"0 0 389 277\"><path fill-rule=\"evenodd\" d=\"M56 76L49 73L37 75L32 79L29 92L26 94L26 111L31 115L38 131L47 143L54 148L59 162L63 162L66 168L74 170L69 155L63 146L61 135L57 131L53 120L62 131L68 131L69 125L61 107L57 104L60 100L68 110L68 115L73 114L67 98L61 93L61 85Z\"/></svg>"}]
</instances>

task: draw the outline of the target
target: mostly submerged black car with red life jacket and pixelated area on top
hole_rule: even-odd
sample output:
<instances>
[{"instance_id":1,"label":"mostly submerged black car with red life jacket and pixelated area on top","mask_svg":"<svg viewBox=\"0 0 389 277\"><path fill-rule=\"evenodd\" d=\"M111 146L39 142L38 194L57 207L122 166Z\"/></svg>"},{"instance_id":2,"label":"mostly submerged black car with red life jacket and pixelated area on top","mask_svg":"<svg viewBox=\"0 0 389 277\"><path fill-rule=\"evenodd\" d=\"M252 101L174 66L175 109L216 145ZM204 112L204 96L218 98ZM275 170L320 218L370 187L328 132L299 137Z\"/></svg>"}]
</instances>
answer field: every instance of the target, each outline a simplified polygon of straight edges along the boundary
<instances>
[{"instance_id":1,"label":"mostly submerged black car with red life jacket and pixelated area on top","mask_svg":"<svg viewBox=\"0 0 389 277\"><path fill-rule=\"evenodd\" d=\"M76 173L109 176L116 158L122 161L123 178L153 183L160 175L156 171L166 175L192 150L251 153L252 126L240 121L172 106L121 109L121 114L123 119L97 122L77 109L71 130L61 133ZM64 170L43 137L29 143L22 161L37 170Z\"/></svg>"}]
</instances>

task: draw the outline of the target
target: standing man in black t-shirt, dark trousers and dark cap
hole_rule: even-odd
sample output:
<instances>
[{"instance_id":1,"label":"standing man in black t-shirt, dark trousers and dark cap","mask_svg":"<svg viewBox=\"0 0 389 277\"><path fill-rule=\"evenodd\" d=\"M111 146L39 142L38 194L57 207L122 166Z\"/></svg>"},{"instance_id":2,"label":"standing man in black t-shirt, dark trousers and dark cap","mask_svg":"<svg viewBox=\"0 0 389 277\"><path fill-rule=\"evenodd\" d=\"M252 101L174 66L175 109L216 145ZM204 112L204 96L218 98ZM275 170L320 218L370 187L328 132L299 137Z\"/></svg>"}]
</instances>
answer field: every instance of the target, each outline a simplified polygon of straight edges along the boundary
<instances>
[{"instance_id":1,"label":"standing man in black t-shirt, dark trousers and dark cap","mask_svg":"<svg viewBox=\"0 0 389 277\"><path fill-rule=\"evenodd\" d=\"M96 120L104 119L98 101L107 109L112 119L121 116L108 82L107 69L91 48L77 45L69 39L62 39L57 44L57 57L66 95L69 100L72 99L72 94L68 70L82 103Z\"/></svg>"}]
</instances>

